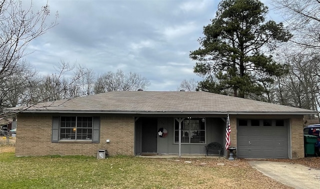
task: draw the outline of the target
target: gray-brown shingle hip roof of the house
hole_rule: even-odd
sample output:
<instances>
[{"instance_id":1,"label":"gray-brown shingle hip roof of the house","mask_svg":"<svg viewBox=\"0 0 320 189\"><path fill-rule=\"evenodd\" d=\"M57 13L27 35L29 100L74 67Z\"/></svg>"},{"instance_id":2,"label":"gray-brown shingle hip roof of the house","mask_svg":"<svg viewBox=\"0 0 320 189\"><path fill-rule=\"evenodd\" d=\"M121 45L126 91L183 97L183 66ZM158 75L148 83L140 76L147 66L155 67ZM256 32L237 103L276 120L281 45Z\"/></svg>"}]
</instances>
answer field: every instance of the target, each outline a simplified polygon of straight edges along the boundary
<instances>
[{"instance_id":1,"label":"gray-brown shingle hip roof of the house","mask_svg":"<svg viewBox=\"0 0 320 189\"><path fill-rule=\"evenodd\" d=\"M10 110L14 108L8 108ZM16 108L15 108L16 109ZM112 91L38 103L25 112L315 114L313 110L210 92Z\"/></svg>"}]
</instances>

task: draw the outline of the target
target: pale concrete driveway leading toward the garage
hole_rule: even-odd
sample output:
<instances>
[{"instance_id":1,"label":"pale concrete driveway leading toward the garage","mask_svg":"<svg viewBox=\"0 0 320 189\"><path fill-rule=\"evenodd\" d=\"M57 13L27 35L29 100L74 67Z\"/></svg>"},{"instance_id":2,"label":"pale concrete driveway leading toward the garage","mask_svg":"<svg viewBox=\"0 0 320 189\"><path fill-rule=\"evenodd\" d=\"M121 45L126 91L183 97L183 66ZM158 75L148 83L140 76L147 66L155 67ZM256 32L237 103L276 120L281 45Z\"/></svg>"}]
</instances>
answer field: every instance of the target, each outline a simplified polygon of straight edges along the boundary
<instances>
[{"instance_id":1,"label":"pale concrete driveway leading toward the garage","mask_svg":"<svg viewBox=\"0 0 320 189\"><path fill-rule=\"evenodd\" d=\"M294 188L320 188L320 169L301 164L250 160L250 165L264 175Z\"/></svg>"}]
</instances>

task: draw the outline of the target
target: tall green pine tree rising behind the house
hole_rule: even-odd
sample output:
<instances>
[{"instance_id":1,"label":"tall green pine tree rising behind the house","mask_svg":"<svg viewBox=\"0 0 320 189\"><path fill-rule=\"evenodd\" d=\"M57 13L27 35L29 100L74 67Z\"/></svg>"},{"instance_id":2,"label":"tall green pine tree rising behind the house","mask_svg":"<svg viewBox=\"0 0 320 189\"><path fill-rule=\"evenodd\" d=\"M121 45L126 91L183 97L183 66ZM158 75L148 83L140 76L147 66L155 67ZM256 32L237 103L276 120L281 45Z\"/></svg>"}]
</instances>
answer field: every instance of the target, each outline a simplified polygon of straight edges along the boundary
<instances>
[{"instance_id":1,"label":"tall green pine tree rising behind the house","mask_svg":"<svg viewBox=\"0 0 320 189\"><path fill-rule=\"evenodd\" d=\"M285 72L270 52L292 35L282 23L265 21L268 9L258 0L222 0L216 16L203 27L200 48L190 51L197 60L194 72L204 80L200 88L234 96L260 96L263 83Z\"/></svg>"}]
</instances>

